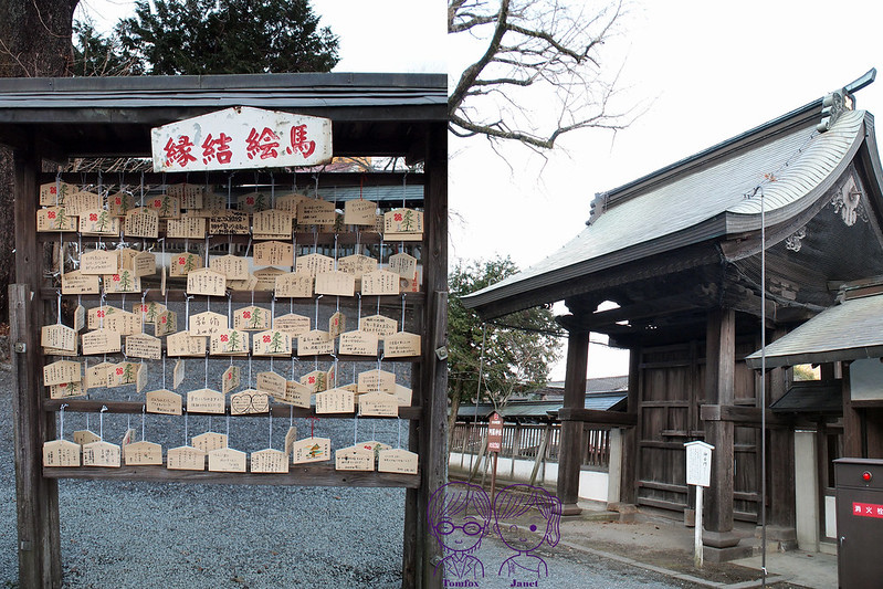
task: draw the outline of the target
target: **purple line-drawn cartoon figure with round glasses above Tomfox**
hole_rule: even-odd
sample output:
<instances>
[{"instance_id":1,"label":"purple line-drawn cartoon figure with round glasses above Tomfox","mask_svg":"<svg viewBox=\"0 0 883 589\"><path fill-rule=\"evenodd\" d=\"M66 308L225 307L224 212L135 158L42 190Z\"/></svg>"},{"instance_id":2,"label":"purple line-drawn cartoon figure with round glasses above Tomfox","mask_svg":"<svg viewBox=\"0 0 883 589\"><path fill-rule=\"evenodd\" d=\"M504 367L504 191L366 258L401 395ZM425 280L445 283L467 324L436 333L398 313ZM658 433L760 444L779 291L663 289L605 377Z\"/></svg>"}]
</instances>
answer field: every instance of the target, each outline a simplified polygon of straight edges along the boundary
<instances>
[{"instance_id":1,"label":"purple line-drawn cartoon figure with round glasses above Tomfox","mask_svg":"<svg viewBox=\"0 0 883 589\"><path fill-rule=\"evenodd\" d=\"M469 483L446 483L432 494L428 512L432 534L445 554L433 574L443 568L448 578L484 577L484 565L472 556L491 523L491 501L484 490Z\"/></svg>"}]
</instances>

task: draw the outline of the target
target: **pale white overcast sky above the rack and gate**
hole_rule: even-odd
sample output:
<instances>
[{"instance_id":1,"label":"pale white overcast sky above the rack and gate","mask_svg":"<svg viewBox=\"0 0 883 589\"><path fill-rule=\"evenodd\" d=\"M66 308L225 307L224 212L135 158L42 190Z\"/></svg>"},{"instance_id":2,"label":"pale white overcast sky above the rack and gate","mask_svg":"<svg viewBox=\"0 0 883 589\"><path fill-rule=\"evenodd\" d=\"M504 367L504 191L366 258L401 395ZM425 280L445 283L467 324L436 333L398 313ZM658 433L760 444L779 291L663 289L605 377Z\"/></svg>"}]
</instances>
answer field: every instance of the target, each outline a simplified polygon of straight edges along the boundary
<instances>
[{"instance_id":1,"label":"pale white overcast sky above the rack and gate","mask_svg":"<svg viewBox=\"0 0 883 589\"><path fill-rule=\"evenodd\" d=\"M115 20L125 0L82 0ZM590 2L587 2L590 4ZM471 55L445 41L443 0L314 0L340 35L338 72L439 72ZM622 106L647 112L613 138L587 130L547 159L482 140L450 143L451 255L511 255L521 266L585 225L596 192L776 118L883 67L883 2L874 0L665 0L632 2L603 64L622 67ZM454 74L456 72L453 72ZM883 113L881 80L856 95ZM505 160L504 160L505 158ZM671 211L677 214L677 211ZM592 347L589 374L624 374L624 356ZM558 367L554 376L561 378Z\"/></svg>"}]
</instances>

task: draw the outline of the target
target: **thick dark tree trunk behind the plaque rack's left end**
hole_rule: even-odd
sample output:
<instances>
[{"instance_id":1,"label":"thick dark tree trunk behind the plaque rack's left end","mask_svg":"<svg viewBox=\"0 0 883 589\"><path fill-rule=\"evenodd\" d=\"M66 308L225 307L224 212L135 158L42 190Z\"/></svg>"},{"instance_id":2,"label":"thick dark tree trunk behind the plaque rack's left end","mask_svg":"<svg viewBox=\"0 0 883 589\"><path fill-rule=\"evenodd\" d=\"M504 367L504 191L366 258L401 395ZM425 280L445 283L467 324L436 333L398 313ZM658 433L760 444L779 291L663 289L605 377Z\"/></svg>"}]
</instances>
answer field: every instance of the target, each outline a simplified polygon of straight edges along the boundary
<instances>
[{"instance_id":1,"label":"thick dark tree trunk behind the plaque rack's left end","mask_svg":"<svg viewBox=\"0 0 883 589\"><path fill-rule=\"evenodd\" d=\"M70 75L73 17L78 1L0 0L0 77ZM14 280L15 267L12 194L12 154L0 146L0 320L3 322L9 317L8 286Z\"/></svg>"}]
</instances>

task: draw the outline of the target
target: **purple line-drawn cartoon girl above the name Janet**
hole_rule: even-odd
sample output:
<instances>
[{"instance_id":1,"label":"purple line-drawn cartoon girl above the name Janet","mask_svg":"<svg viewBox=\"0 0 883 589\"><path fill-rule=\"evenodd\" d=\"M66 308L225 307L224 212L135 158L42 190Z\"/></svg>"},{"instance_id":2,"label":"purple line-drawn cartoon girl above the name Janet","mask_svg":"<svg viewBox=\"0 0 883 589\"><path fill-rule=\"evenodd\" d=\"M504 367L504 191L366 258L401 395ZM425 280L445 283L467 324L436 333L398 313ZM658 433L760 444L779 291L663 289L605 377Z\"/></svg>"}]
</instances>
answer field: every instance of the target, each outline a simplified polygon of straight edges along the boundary
<instances>
[{"instance_id":1,"label":"purple line-drawn cartoon girl above the name Janet","mask_svg":"<svg viewBox=\"0 0 883 589\"><path fill-rule=\"evenodd\" d=\"M494 498L494 529L515 550L500 566L498 575L538 579L548 577L546 561L532 555L545 541L556 546L561 538L561 502L543 487L509 485Z\"/></svg>"}]
</instances>

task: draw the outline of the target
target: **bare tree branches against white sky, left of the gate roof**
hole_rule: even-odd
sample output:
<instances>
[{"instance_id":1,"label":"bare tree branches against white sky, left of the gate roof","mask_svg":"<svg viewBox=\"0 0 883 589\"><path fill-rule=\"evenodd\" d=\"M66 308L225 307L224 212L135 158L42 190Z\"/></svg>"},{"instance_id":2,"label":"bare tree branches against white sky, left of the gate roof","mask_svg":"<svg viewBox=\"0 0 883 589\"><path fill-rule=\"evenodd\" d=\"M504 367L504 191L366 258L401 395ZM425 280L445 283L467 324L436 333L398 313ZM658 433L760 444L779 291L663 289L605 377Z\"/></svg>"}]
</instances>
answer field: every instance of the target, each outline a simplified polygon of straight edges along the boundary
<instances>
[{"instance_id":1,"label":"bare tree branches against white sky, left of the gate roof","mask_svg":"<svg viewBox=\"0 0 883 589\"><path fill-rule=\"evenodd\" d=\"M630 109L610 106L619 72L601 60L623 1L589 13L563 0L449 0L449 34L469 32L483 48L449 96L451 133L544 150L578 129L628 127Z\"/></svg>"}]
</instances>

